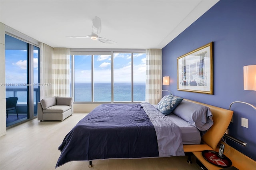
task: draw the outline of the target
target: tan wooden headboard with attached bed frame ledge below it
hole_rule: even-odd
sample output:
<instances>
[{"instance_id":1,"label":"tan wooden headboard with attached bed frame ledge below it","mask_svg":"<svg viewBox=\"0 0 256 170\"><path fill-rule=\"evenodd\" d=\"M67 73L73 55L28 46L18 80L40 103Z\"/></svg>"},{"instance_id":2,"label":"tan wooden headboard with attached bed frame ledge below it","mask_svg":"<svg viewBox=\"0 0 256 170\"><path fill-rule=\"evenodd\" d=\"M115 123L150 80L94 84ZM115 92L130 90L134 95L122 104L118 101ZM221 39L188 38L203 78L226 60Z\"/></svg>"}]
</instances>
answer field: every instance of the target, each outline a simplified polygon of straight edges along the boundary
<instances>
[{"instance_id":1,"label":"tan wooden headboard with attached bed frame ledge below it","mask_svg":"<svg viewBox=\"0 0 256 170\"><path fill-rule=\"evenodd\" d=\"M233 111L228 109L223 109L220 107L207 105L204 103L183 99L186 101L190 101L193 103L198 103L200 105L204 105L210 108L212 112L213 125L212 127L202 136L202 143L198 145L184 145L184 152L200 152L203 150L215 150L221 138L226 132L228 125L233 116Z\"/></svg>"}]
</instances>

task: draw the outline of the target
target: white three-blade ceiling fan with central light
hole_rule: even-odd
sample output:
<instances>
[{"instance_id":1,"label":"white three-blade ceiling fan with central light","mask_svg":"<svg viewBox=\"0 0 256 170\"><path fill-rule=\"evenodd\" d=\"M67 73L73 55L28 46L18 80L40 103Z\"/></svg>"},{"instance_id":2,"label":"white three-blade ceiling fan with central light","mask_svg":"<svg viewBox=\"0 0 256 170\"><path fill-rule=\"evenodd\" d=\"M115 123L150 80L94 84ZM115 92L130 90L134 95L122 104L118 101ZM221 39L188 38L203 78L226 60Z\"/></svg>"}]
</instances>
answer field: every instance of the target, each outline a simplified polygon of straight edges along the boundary
<instances>
[{"instance_id":1,"label":"white three-blade ceiling fan with central light","mask_svg":"<svg viewBox=\"0 0 256 170\"><path fill-rule=\"evenodd\" d=\"M102 43L112 43L115 44L116 42L112 41L112 40L108 40L106 38L102 38L99 36L101 32L101 20L98 16L95 16L94 20L93 20L93 24L92 24L92 34L85 36L85 37L70 37L70 38L90 38L92 40L98 40Z\"/></svg>"}]
</instances>

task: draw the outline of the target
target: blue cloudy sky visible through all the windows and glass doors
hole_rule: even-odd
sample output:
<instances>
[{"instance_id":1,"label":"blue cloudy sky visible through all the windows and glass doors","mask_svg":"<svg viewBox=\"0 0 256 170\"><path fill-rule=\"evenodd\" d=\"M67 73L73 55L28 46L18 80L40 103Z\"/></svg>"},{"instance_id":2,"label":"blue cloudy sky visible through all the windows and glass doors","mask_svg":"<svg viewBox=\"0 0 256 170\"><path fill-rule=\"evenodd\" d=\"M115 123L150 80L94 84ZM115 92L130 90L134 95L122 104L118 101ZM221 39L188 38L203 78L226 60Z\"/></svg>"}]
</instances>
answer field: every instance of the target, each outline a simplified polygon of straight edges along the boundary
<instances>
[{"instance_id":1,"label":"blue cloudy sky visible through all the windows and glass doors","mask_svg":"<svg viewBox=\"0 0 256 170\"><path fill-rule=\"evenodd\" d=\"M6 83L26 83L27 51L6 50ZM75 83L91 82L91 55L75 56ZM34 83L38 79L38 50L34 50ZM146 54L134 53L134 83L145 83ZM111 55L94 55L95 83L111 82ZM114 83L131 83L131 54L114 53Z\"/></svg>"}]
</instances>

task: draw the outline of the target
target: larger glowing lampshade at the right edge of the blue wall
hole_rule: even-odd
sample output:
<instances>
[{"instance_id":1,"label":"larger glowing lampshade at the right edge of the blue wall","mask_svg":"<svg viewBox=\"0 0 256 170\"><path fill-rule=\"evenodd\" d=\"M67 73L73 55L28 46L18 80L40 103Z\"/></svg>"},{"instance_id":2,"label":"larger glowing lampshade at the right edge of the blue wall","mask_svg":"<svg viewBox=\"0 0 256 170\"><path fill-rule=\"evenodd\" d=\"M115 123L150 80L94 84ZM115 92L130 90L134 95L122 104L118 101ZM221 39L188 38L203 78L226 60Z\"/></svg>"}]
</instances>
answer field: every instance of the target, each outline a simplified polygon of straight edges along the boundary
<instances>
[{"instance_id":1,"label":"larger glowing lampshade at the right edge of the blue wall","mask_svg":"<svg viewBox=\"0 0 256 170\"><path fill-rule=\"evenodd\" d=\"M244 90L256 91L256 65L244 66Z\"/></svg>"}]
</instances>

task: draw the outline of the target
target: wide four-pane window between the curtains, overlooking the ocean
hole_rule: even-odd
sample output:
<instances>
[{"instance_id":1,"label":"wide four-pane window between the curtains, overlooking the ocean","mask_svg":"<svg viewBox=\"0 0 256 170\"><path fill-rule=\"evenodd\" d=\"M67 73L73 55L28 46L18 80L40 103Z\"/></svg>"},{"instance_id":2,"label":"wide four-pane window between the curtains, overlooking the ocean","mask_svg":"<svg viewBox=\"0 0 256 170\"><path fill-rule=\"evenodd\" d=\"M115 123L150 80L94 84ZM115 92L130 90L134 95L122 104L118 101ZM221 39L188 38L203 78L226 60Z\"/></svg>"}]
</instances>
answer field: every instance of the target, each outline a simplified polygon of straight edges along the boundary
<instances>
[{"instance_id":1,"label":"wide four-pane window between the curtains, overlooking the ocean","mask_svg":"<svg viewBox=\"0 0 256 170\"><path fill-rule=\"evenodd\" d=\"M100 54L99 54L100 53ZM72 52L71 52L72 54ZM75 102L145 101L144 52L80 52L71 55ZM88 55L90 54L90 55ZM74 89L72 89L74 87ZM72 93L71 93L72 96Z\"/></svg>"}]
</instances>

